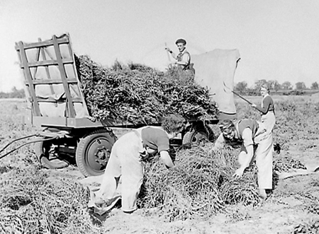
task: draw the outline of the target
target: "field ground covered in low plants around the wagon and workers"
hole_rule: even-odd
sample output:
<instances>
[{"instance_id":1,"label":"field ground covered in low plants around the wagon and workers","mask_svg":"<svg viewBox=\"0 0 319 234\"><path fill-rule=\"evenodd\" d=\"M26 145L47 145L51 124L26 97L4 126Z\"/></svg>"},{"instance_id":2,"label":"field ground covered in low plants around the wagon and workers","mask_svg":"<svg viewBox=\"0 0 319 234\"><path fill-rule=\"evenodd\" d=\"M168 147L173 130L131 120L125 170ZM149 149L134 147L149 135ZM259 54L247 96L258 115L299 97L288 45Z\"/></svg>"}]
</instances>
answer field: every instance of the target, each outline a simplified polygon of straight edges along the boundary
<instances>
[{"instance_id":1,"label":"field ground covered in low plants around the wagon and workers","mask_svg":"<svg viewBox=\"0 0 319 234\"><path fill-rule=\"evenodd\" d=\"M261 100L247 98L254 103ZM275 153L274 158L289 156L310 170L318 168L318 95L273 98L275 143L281 146L281 153ZM243 100L236 98L235 103L239 118L259 119L257 111ZM23 100L0 100L0 148L40 131L28 124L29 117ZM125 131L115 132L121 136ZM9 150L27 141L13 144ZM91 184L83 180L76 166L42 169L33 146L27 145L0 160L0 173L0 233L319 233L317 172L279 180L266 201L227 205L210 217L169 222L157 209L139 209L132 214L113 209L102 226L91 224L85 207L89 196L86 186Z\"/></svg>"}]
</instances>

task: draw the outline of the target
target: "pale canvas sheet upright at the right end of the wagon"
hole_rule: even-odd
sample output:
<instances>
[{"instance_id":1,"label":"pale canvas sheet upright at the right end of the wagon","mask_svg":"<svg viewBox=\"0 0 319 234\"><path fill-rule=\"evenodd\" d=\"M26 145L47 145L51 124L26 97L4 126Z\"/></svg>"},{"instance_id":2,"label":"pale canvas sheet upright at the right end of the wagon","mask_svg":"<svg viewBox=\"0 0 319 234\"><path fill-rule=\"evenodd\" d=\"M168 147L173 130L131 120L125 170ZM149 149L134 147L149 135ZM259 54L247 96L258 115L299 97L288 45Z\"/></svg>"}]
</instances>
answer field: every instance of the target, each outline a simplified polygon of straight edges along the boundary
<instances>
[{"instance_id":1,"label":"pale canvas sheet upright at the right end of the wagon","mask_svg":"<svg viewBox=\"0 0 319 234\"><path fill-rule=\"evenodd\" d=\"M240 54L237 49L214 49L204 54L192 55L195 81L200 86L208 87L218 110L226 114L235 114L234 95L225 92L226 86L233 90L234 76Z\"/></svg>"}]
</instances>

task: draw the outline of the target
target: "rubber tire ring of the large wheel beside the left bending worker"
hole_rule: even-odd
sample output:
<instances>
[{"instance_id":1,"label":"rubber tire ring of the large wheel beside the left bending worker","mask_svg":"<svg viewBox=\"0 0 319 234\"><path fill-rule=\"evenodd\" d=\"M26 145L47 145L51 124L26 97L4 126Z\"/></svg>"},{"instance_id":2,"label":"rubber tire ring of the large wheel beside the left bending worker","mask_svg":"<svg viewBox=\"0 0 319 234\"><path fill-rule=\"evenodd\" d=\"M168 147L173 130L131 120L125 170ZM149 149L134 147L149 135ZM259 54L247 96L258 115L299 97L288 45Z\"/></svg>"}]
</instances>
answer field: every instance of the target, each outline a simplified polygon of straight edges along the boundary
<instances>
[{"instance_id":1,"label":"rubber tire ring of the large wheel beside the left bending worker","mask_svg":"<svg viewBox=\"0 0 319 234\"><path fill-rule=\"evenodd\" d=\"M104 146L111 152L111 148L116 141L116 136L107 129L98 129L80 139L79 144L77 144L75 160L79 171L82 172L82 175L85 177L102 175L105 170L105 168L96 170L89 165L90 160L87 156L87 151L89 151L89 147L96 139L103 139L103 142L106 143Z\"/></svg>"}]
</instances>

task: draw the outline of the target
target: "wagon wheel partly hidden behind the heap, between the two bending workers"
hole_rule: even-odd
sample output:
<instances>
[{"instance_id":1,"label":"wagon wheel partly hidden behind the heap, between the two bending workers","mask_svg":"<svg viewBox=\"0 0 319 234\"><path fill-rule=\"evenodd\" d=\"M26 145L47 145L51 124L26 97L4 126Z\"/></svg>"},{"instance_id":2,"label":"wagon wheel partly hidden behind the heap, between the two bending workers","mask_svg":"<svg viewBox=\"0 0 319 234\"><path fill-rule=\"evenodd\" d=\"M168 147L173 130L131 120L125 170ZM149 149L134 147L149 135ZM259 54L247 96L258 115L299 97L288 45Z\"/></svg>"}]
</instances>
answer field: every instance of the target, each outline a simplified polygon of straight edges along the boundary
<instances>
[{"instance_id":1,"label":"wagon wheel partly hidden behind the heap, between the two bending workers","mask_svg":"<svg viewBox=\"0 0 319 234\"><path fill-rule=\"evenodd\" d=\"M213 130L208 125L196 124L191 128L191 131L186 132L183 137L183 145L191 146L198 145L203 142L213 141L215 135Z\"/></svg>"}]
</instances>

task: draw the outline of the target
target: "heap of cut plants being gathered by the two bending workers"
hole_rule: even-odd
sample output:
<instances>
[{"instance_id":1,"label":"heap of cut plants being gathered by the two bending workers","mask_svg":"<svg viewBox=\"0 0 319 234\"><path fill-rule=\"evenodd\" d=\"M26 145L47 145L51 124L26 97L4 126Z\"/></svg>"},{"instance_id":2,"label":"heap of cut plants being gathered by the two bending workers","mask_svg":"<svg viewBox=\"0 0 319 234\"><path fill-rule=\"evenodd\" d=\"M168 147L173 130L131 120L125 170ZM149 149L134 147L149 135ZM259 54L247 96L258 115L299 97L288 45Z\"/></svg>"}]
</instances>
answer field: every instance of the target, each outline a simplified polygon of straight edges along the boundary
<instances>
[{"instance_id":1,"label":"heap of cut plants being gathered by the two bending workers","mask_svg":"<svg viewBox=\"0 0 319 234\"><path fill-rule=\"evenodd\" d=\"M256 206L260 202L257 166L247 168L239 179L233 178L238 168L237 150L211 152L211 146L194 146L177 152L175 166L167 169L159 160L147 165L139 197L142 208L157 208L168 221L201 216L208 218L224 211L226 205ZM291 168L293 160L274 158L273 183L278 176L275 168Z\"/></svg>"}]
</instances>

